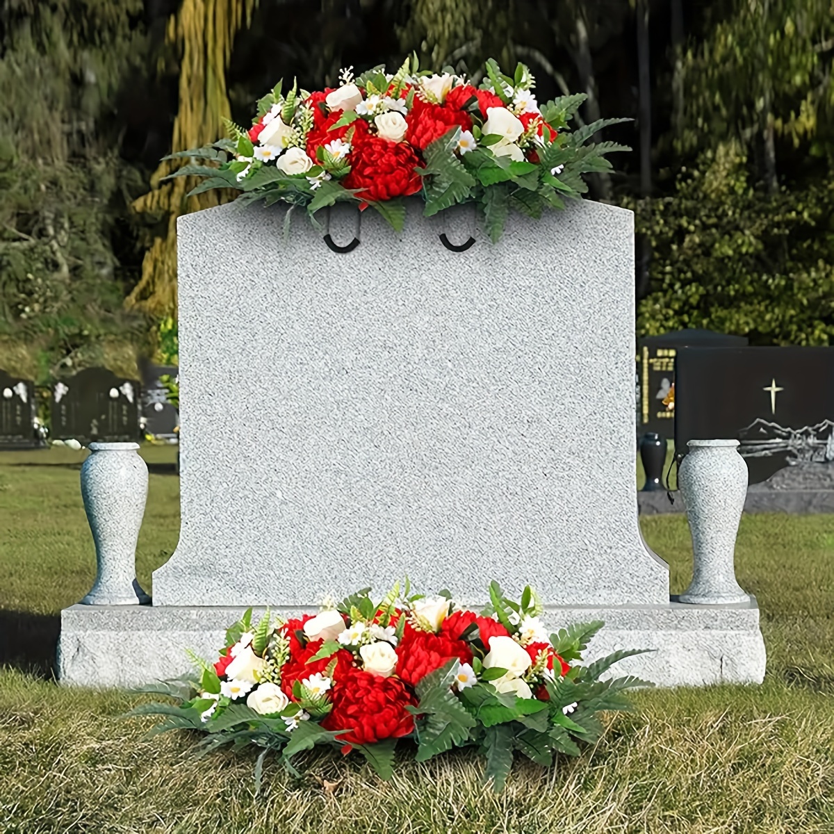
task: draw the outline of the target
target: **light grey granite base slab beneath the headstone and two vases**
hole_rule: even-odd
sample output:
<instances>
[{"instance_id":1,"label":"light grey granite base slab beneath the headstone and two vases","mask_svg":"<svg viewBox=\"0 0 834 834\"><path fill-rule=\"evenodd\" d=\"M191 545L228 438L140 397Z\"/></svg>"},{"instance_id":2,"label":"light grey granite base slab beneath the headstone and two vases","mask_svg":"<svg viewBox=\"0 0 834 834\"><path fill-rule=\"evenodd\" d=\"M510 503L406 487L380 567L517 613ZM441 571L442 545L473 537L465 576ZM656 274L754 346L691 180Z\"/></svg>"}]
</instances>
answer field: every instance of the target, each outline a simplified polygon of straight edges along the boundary
<instances>
[{"instance_id":1,"label":"light grey granite base slab beneath the headstone and two vases","mask_svg":"<svg viewBox=\"0 0 834 834\"><path fill-rule=\"evenodd\" d=\"M61 612L58 678L77 686L138 686L191 671L190 649L214 660L226 628L243 608L168 605L72 605ZM283 616L300 609L275 610ZM620 649L655 649L626 658L613 676L636 675L658 686L761 683L765 644L756 600L741 605L605 607L553 606L545 610L550 631L577 622L604 620L586 661Z\"/></svg>"}]
</instances>

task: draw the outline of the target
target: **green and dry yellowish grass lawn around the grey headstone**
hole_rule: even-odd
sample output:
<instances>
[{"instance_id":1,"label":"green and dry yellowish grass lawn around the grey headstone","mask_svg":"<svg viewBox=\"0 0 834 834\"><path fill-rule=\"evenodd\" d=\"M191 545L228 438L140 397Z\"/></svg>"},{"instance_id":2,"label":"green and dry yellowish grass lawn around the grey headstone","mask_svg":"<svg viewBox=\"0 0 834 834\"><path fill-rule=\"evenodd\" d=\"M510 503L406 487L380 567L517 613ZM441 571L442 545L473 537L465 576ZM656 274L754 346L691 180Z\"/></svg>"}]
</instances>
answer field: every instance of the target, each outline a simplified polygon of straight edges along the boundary
<instances>
[{"instance_id":1,"label":"green and dry yellowish grass lawn around the grey headstone","mask_svg":"<svg viewBox=\"0 0 834 834\"><path fill-rule=\"evenodd\" d=\"M176 545L178 478L173 448L142 454L138 579L150 590ZM198 760L186 736L144 740L153 720L121 716L147 696L51 679L58 612L95 573L84 455L0 453L0 831L834 831L834 517L741 522L738 579L758 597L768 652L761 687L641 691L636 712L608 716L580 759L543 771L517 756L499 796L481 786L475 756L417 765L404 750L390 782L329 751L304 761L302 779L268 760L255 797L253 755ZM641 526L681 592L686 519Z\"/></svg>"}]
</instances>

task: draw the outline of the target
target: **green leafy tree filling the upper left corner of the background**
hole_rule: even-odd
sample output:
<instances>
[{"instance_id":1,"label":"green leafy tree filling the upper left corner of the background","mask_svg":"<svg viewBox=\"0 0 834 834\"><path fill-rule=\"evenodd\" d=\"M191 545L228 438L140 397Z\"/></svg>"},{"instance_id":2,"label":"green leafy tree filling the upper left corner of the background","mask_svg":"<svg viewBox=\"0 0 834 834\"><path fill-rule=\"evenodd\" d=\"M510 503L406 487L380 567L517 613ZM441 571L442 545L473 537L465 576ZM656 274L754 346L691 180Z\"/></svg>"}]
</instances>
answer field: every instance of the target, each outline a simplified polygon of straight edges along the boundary
<instances>
[{"instance_id":1,"label":"green leafy tree filling the upper left corner of the background","mask_svg":"<svg viewBox=\"0 0 834 834\"><path fill-rule=\"evenodd\" d=\"M44 373L144 330L123 313L112 243L141 188L114 113L142 72L142 12L141 0L0 8L0 333L40 344Z\"/></svg>"}]
</instances>

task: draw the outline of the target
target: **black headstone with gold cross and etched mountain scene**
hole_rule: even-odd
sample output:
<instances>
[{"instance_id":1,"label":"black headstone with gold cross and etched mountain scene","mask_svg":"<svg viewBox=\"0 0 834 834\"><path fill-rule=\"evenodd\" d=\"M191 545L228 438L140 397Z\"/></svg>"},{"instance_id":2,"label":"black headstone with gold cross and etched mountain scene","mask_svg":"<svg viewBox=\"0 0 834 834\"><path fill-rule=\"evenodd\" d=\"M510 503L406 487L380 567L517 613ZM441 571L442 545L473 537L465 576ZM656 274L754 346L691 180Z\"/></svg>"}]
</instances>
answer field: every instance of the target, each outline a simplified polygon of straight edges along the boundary
<instances>
[{"instance_id":1,"label":"black headstone with gold cross and etched mountain scene","mask_svg":"<svg viewBox=\"0 0 834 834\"><path fill-rule=\"evenodd\" d=\"M834 462L834 349L683 348L676 382L678 454L689 440L739 440L751 484Z\"/></svg>"}]
</instances>

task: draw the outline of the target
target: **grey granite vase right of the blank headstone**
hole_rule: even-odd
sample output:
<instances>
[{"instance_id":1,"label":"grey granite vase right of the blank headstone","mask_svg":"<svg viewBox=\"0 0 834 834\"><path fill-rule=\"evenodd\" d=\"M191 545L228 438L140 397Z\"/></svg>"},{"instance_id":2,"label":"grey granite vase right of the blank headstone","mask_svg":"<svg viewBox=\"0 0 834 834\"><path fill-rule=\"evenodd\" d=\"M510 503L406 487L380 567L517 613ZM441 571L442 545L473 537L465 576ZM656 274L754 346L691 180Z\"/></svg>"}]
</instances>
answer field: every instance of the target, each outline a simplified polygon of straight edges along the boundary
<instances>
[{"instance_id":1,"label":"grey granite vase right of the blank headstone","mask_svg":"<svg viewBox=\"0 0 834 834\"><path fill-rule=\"evenodd\" d=\"M721 605L750 600L736 581L734 557L747 495L747 465L738 440L690 440L678 487L694 554L692 581L681 602Z\"/></svg>"}]
</instances>

